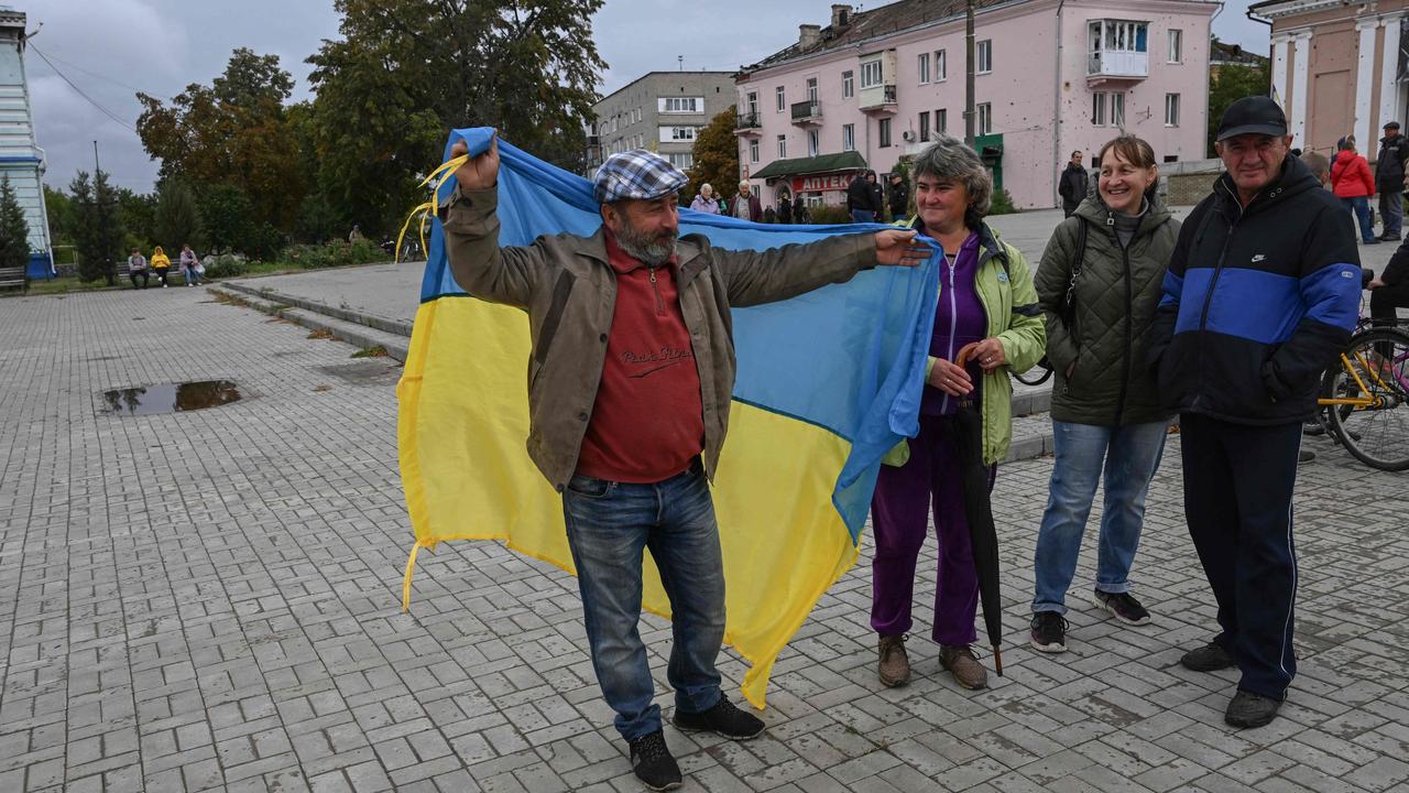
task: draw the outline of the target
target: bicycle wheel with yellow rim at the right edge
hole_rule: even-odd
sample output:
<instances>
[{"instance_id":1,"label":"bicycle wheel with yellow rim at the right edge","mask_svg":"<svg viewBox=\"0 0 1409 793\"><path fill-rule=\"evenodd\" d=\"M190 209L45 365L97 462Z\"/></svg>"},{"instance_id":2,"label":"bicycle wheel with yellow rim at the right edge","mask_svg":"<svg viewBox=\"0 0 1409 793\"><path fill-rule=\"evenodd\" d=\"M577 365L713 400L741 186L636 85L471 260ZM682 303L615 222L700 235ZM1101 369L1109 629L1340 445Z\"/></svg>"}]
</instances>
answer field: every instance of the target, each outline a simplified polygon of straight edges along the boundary
<instances>
[{"instance_id":1,"label":"bicycle wheel with yellow rim at the right edge","mask_svg":"<svg viewBox=\"0 0 1409 793\"><path fill-rule=\"evenodd\" d=\"M1394 329L1355 334L1327 377L1333 396L1358 402L1326 411L1346 450L1382 471L1409 470L1409 334Z\"/></svg>"}]
</instances>

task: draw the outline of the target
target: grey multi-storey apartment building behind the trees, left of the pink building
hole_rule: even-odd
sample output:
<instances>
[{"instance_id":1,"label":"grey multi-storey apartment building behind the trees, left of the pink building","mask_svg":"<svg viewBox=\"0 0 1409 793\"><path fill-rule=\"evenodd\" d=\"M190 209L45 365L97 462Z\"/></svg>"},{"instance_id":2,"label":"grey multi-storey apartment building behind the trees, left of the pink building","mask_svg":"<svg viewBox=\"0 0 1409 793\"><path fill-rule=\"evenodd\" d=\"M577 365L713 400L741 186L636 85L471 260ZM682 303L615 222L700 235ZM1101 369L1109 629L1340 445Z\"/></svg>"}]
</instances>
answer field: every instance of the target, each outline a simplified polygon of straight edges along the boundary
<instances>
[{"instance_id":1,"label":"grey multi-storey apartment building behind the trees, left of the pink building","mask_svg":"<svg viewBox=\"0 0 1409 793\"><path fill-rule=\"evenodd\" d=\"M654 151L685 171L695 162L695 137L733 103L733 72L648 72L592 106L588 175L607 157L633 148Z\"/></svg>"}]
</instances>

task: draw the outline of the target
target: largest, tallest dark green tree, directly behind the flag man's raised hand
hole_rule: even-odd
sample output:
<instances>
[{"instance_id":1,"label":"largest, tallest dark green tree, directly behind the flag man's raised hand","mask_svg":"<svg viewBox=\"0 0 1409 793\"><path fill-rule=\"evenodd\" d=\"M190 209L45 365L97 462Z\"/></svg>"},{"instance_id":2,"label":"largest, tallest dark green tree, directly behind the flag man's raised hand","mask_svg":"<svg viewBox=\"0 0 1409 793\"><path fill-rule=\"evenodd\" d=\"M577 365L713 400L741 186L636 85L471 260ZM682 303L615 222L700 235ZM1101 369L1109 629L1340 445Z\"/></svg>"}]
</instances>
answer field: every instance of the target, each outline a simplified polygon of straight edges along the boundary
<instances>
[{"instance_id":1,"label":"largest, tallest dark green tree, directly behind the flag man's raised hand","mask_svg":"<svg viewBox=\"0 0 1409 793\"><path fill-rule=\"evenodd\" d=\"M420 203L416 175L445 130L496 127L581 169L583 123L606 63L592 38L603 0L337 0L341 41L309 58L317 188L364 231L390 234Z\"/></svg>"}]
</instances>

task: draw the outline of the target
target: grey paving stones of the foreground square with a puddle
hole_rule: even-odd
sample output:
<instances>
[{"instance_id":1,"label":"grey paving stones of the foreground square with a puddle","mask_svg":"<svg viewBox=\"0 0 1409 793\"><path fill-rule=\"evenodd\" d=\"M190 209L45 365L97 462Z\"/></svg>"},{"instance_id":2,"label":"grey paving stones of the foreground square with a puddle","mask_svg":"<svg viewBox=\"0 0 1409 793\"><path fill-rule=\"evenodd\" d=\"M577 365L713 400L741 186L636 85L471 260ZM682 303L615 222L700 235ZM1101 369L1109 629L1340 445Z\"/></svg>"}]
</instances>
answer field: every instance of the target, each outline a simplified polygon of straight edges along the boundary
<instances>
[{"instance_id":1,"label":"grey paving stones of the foreground square with a puddle","mask_svg":"<svg viewBox=\"0 0 1409 793\"><path fill-rule=\"evenodd\" d=\"M0 792L640 789L572 579L447 543L400 614L399 370L352 351L206 289L0 299ZM97 412L103 389L204 378L245 399ZM666 730L686 789L1409 792L1406 480L1310 443L1301 674L1271 727L1224 727L1234 677L1177 663L1213 603L1171 436L1133 574L1153 625L1085 603L1088 543L1071 652L1027 649L1051 461L1005 466L1007 676L967 693L938 669L931 545L914 682L881 687L868 545L779 659L764 737ZM668 708L668 626L643 635ZM744 666L721 670L733 694Z\"/></svg>"}]
</instances>

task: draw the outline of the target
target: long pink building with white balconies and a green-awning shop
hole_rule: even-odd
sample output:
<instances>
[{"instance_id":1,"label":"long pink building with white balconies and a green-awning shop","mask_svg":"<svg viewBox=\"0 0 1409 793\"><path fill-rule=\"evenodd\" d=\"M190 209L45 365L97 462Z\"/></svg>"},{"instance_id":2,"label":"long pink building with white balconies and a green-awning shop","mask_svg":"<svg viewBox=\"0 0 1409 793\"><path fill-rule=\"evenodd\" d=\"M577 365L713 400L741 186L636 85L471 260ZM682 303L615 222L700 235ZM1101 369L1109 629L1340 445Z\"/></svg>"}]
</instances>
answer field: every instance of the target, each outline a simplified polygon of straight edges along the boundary
<instances>
[{"instance_id":1,"label":"long pink building with white balconies and a green-awning shop","mask_svg":"<svg viewBox=\"0 0 1409 793\"><path fill-rule=\"evenodd\" d=\"M1165 162L1202 159L1208 0L978 0L975 148L1019 207L1058 205L1071 152L1122 131ZM831 7L826 27L743 69L738 151L765 200L843 203L936 133L964 137L964 0Z\"/></svg>"}]
</instances>

